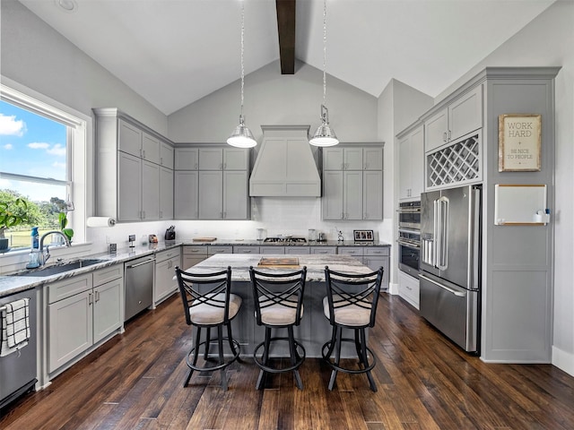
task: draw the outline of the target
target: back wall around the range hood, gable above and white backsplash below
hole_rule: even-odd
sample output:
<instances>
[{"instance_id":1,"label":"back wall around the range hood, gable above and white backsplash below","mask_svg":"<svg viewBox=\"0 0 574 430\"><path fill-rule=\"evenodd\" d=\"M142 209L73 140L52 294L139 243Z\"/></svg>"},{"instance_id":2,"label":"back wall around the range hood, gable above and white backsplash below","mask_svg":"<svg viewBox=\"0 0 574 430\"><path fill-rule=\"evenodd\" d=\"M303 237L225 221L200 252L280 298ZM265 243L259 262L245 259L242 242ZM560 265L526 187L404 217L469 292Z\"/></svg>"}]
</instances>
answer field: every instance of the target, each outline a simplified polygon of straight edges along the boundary
<instances>
[{"instance_id":1,"label":"back wall around the range hood, gable above and white backsplash below","mask_svg":"<svg viewBox=\"0 0 574 430\"><path fill-rule=\"evenodd\" d=\"M171 114L168 137L174 142L225 142L239 121L239 91L238 80ZM310 125L309 133L314 133L320 124L322 101L323 72L308 64L297 62L295 74L282 75L279 61L274 61L245 77L246 125L259 143L263 136L261 125ZM377 103L366 92L327 75L326 106L330 124L341 142L378 141ZM252 162L257 157L257 148ZM392 183L392 176L385 176L385 180ZM388 211L393 203L386 195L384 198ZM378 233L380 240L390 242L392 229L387 228L390 219L324 222L320 202L312 197L257 197L252 199L251 221L178 221L178 231L182 237L254 239L256 228L265 228L269 236L307 236L309 228L316 228L325 232L327 238L336 239L337 227L351 240L353 228L369 228Z\"/></svg>"}]
</instances>

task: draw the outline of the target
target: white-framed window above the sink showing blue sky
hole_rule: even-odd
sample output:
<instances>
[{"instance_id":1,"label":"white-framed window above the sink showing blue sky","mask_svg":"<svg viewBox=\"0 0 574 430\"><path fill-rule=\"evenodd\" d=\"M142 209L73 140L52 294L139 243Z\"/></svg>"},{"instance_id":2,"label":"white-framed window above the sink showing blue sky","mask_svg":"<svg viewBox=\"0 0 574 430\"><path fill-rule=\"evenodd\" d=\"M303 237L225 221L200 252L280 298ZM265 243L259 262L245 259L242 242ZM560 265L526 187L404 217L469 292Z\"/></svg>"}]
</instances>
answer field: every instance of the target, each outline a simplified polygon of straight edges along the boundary
<instances>
[{"instance_id":1,"label":"white-framed window above the sink showing blue sky","mask_svg":"<svg viewBox=\"0 0 574 430\"><path fill-rule=\"evenodd\" d=\"M73 242L83 242L86 120L26 92L4 84L0 91L0 201L21 197L30 215L29 225L4 235L13 250L30 247L30 228L39 226L40 236L60 229L58 214L65 212Z\"/></svg>"}]
</instances>

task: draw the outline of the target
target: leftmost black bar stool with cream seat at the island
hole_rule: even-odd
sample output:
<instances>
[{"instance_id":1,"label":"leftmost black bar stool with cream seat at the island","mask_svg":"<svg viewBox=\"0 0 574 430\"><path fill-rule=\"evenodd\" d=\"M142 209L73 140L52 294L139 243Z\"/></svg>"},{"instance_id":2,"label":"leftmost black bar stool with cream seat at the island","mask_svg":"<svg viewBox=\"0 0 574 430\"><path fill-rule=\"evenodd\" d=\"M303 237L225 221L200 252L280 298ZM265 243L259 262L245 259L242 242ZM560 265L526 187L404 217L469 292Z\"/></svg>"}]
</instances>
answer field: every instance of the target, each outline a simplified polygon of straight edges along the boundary
<instances>
[{"instance_id":1,"label":"leftmost black bar stool with cream seat at the island","mask_svg":"<svg viewBox=\"0 0 574 430\"><path fill-rule=\"evenodd\" d=\"M192 273L182 271L176 266L176 276L186 323L197 329L194 347L191 348L186 357L189 373L183 386L187 387L194 370L198 372L219 370L222 374L222 389L227 390L225 368L239 357L239 342L233 340L231 335L231 320L238 314L241 306L241 297L230 294L231 268L228 267L225 271L211 273ZM223 337L224 326L227 327L227 338ZM216 366L207 366L207 364L197 366L197 357L199 357L199 349L202 345L204 346L204 360L206 361L209 357L211 329L213 327L217 328L218 363ZM206 329L203 342L200 341L202 329ZM227 361L223 358L223 340L229 342L232 354L232 357Z\"/></svg>"}]
</instances>

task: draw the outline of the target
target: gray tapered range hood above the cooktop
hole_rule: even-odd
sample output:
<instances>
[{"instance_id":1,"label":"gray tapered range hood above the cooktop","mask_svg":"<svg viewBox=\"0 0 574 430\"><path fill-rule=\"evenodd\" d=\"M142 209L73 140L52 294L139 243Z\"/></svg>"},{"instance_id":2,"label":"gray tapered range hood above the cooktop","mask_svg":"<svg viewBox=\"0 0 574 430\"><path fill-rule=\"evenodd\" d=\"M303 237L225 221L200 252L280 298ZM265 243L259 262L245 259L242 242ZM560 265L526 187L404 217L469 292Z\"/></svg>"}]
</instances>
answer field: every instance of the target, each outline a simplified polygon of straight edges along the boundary
<instances>
[{"instance_id":1,"label":"gray tapered range hood above the cooktop","mask_svg":"<svg viewBox=\"0 0 574 430\"><path fill-rule=\"evenodd\" d=\"M249 178L251 197L320 197L309 125L261 125L263 142Z\"/></svg>"}]
</instances>

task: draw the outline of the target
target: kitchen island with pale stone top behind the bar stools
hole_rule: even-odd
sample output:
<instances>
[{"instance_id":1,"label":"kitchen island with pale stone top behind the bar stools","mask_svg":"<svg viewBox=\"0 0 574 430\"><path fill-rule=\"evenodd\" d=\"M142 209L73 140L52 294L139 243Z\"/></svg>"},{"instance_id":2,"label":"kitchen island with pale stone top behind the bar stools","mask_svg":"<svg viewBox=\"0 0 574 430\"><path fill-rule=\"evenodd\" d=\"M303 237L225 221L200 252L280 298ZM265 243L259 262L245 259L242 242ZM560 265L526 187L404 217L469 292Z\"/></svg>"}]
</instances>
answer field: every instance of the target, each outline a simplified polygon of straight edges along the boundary
<instances>
[{"instance_id":1,"label":"kitchen island with pale stone top behind the bar stools","mask_svg":"<svg viewBox=\"0 0 574 430\"><path fill-rule=\"evenodd\" d=\"M257 344L264 340L265 328L257 326L255 321L255 307L253 292L249 279L249 267L253 266L261 271L294 271L292 266L282 269L280 266L258 266L262 258L284 259L283 254L215 254L192 268L185 268L194 272L222 271L231 267L231 292L243 300L239 314L231 323L233 338L239 341L242 356L251 356ZM372 270L357 259L348 255L289 255L296 258L302 268L307 266L307 283L303 297L303 317L299 327L295 327L295 339L305 347L307 357L321 357L321 347L331 339L331 326L323 314L323 297L326 296L325 266L334 271L345 273L364 274ZM387 273L384 274L387 276ZM272 356L286 357L286 348L272 350ZM343 357L354 357L354 348L343 350Z\"/></svg>"}]
</instances>

